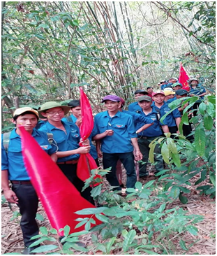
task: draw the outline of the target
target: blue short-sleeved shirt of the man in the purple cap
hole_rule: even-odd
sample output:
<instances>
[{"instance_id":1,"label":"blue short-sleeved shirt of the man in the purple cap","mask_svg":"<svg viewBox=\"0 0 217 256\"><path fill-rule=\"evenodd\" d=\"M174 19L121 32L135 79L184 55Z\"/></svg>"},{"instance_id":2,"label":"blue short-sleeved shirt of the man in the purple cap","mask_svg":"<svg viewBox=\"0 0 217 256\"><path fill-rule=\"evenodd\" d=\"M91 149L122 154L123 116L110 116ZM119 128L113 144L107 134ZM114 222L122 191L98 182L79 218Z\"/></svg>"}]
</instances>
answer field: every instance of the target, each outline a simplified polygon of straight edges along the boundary
<instances>
[{"instance_id":1,"label":"blue short-sleeved shirt of the man in the purple cap","mask_svg":"<svg viewBox=\"0 0 217 256\"><path fill-rule=\"evenodd\" d=\"M110 117L107 111L98 113L95 116L97 134L103 133L107 129L112 129L112 136L105 136L101 139L101 150L105 153L125 153L133 152L133 145L130 138L137 138L133 117L117 112L114 117Z\"/></svg>"}]
</instances>

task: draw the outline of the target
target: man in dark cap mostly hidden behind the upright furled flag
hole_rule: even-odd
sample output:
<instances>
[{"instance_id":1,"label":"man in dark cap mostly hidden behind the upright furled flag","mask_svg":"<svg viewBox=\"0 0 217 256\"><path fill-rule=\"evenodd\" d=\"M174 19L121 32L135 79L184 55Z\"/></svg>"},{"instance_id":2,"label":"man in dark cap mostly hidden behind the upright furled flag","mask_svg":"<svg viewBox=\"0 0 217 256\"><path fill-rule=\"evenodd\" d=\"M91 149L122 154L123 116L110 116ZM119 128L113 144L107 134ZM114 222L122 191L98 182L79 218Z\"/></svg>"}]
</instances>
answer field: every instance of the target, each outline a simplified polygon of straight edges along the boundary
<instances>
[{"instance_id":1,"label":"man in dark cap mostly hidden behind the upright furled flag","mask_svg":"<svg viewBox=\"0 0 217 256\"><path fill-rule=\"evenodd\" d=\"M70 112L72 113L72 115L70 115L66 118L63 118L62 121L73 122L73 123L75 123L75 125L77 125L77 127L80 127L80 125L82 124L82 108L80 106L80 100L73 99L72 101L70 101L68 103L68 106L70 106ZM93 128L93 131L91 132L91 135L89 136L89 142L90 142L90 146L91 146L91 150L89 153L95 160L97 166L100 166L100 164L98 162L96 146L93 145L93 143L92 143L92 138L96 135L96 133L94 131L95 130Z\"/></svg>"}]
</instances>

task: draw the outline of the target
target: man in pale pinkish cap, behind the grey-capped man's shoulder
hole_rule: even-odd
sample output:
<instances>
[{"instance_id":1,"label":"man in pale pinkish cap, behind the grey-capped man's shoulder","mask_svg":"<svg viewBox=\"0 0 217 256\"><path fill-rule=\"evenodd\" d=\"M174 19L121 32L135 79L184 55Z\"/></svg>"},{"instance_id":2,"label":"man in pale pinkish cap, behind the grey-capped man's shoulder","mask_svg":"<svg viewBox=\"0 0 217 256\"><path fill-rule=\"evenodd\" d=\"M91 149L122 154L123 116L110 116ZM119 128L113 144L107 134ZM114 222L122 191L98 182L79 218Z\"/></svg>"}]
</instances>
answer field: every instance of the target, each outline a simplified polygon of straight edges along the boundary
<instances>
[{"instance_id":1,"label":"man in pale pinkish cap, behind the grey-capped man's shoulder","mask_svg":"<svg viewBox=\"0 0 217 256\"><path fill-rule=\"evenodd\" d=\"M167 104L167 102L164 101L165 94L163 91L154 92L153 95L154 103L153 107L155 111L157 111L160 114L160 118L165 115L165 113L170 111L170 108ZM179 133L179 124L181 122L181 115L178 111L178 109L174 109L172 113L167 115L165 120L163 120L163 123L169 127L170 133ZM173 135L171 136L173 137Z\"/></svg>"}]
</instances>

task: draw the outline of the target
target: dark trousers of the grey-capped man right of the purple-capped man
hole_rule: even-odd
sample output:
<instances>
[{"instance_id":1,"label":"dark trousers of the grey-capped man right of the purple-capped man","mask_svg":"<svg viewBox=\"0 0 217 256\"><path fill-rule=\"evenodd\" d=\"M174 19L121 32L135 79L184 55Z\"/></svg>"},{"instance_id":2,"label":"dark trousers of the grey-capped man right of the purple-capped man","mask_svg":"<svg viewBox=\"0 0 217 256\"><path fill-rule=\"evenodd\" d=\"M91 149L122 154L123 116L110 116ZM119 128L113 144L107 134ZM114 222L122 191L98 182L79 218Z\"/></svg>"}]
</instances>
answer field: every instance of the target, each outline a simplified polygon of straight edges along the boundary
<instances>
[{"instance_id":1,"label":"dark trousers of the grey-capped man right of the purple-capped man","mask_svg":"<svg viewBox=\"0 0 217 256\"><path fill-rule=\"evenodd\" d=\"M149 175L149 172L147 171L147 163L148 163L148 159L149 159L149 150L150 150L149 144L151 143L151 141L154 141L155 138L157 138L157 137L138 138L138 144L140 147L140 151L143 155L142 162L144 162L144 163L139 164L140 178ZM158 154L161 154L159 144L157 144L154 149L154 162L156 163L155 169L157 172L163 170L163 158L161 155L159 156Z\"/></svg>"}]
</instances>

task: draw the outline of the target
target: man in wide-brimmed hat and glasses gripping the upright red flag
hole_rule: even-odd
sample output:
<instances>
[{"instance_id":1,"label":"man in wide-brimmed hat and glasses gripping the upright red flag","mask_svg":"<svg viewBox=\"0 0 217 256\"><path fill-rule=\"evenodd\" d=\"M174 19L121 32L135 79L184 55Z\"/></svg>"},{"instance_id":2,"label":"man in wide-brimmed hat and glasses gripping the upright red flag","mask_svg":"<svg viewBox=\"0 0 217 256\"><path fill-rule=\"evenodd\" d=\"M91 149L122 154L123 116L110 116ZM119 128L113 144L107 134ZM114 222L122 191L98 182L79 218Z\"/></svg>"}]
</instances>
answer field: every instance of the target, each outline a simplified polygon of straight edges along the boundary
<instances>
[{"instance_id":1,"label":"man in wide-brimmed hat and glasses gripping the upright red flag","mask_svg":"<svg viewBox=\"0 0 217 256\"><path fill-rule=\"evenodd\" d=\"M69 106L61 106L59 103L50 101L40 107L39 115L47 118L47 122L41 131L51 132L54 135L54 141L57 143L57 165L64 175L81 193L82 197L94 204L91 197L91 187L87 187L82 192L84 182L77 177L77 162L80 154L86 154L90 150L89 140L82 141L82 147L79 143L80 132L73 122L64 122L64 115L70 110Z\"/></svg>"}]
</instances>

